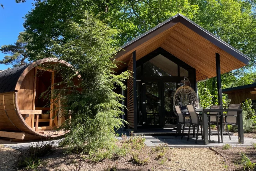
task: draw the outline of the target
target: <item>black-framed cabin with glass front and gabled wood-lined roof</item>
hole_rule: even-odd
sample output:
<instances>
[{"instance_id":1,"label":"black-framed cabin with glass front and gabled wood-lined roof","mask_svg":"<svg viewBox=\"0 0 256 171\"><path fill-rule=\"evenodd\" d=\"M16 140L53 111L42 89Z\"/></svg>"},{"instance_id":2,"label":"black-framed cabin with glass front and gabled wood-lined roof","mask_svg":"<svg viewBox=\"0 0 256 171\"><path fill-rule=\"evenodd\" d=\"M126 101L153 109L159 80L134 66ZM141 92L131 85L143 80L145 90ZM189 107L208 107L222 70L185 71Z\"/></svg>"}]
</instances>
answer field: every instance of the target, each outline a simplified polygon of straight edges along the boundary
<instances>
[{"instance_id":1,"label":"black-framed cabin with glass front and gabled wood-lined roof","mask_svg":"<svg viewBox=\"0 0 256 171\"><path fill-rule=\"evenodd\" d=\"M133 72L127 81L125 104L128 128L164 128L176 125L173 95L182 85L197 92L197 82L217 76L222 107L220 75L248 64L250 58L182 14L162 22L124 44L115 59L116 70ZM120 90L121 91L121 90Z\"/></svg>"}]
</instances>

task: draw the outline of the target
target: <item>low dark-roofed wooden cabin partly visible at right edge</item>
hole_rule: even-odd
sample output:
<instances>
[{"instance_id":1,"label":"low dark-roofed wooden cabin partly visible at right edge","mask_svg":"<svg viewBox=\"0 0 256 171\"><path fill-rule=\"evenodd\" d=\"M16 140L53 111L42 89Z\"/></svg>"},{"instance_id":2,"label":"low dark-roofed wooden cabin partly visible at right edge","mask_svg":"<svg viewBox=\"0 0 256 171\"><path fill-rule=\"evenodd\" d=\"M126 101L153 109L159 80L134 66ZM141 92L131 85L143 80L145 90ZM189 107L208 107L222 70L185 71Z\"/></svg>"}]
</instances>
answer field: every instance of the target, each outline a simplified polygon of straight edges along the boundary
<instances>
[{"instance_id":1,"label":"low dark-roofed wooden cabin partly visible at right edge","mask_svg":"<svg viewBox=\"0 0 256 171\"><path fill-rule=\"evenodd\" d=\"M246 99L251 99L256 110L256 83L223 89L222 93L228 94L231 104L242 104Z\"/></svg>"}]
</instances>

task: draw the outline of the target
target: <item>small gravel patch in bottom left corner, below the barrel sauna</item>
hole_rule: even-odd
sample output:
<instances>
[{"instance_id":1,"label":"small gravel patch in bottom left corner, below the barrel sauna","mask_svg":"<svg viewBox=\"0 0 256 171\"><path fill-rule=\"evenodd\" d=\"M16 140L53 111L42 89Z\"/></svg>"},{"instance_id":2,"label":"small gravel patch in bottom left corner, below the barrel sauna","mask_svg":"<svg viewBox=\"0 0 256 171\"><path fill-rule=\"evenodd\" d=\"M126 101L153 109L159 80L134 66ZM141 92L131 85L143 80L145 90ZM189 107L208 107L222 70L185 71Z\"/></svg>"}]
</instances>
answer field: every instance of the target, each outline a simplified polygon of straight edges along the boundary
<instances>
[{"instance_id":1,"label":"small gravel patch in bottom left corner, below the barrel sauna","mask_svg":"<svg viewBox=\"0 0 256 171\"><path fill-rule=\"evenodd\" d=\"M16 171L20 151L0 145L0 171Z\"/></svg>"}]
</instances>

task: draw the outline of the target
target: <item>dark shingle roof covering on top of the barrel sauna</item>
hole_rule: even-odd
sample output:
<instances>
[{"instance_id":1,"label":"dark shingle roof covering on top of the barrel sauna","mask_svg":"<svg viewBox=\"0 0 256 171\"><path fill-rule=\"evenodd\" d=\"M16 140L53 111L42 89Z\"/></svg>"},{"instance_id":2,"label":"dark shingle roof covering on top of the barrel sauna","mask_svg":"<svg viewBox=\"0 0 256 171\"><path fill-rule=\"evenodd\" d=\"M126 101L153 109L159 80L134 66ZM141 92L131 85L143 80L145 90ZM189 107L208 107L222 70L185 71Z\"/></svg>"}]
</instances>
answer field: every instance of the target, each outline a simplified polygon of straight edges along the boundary
<instances>
[{"instance_id":1,"label":"dark shingle roof covering on top of the barrel sauna","mask_svg":"<svg viewBox=\"0 0 256 171\"><path fill-rule=\"evenodd\" d=\"M10 68L0 72L0 93L14 91L17 81L22 72L29 66L22 65L15 68Z\"/></svg>"}]
</instances>

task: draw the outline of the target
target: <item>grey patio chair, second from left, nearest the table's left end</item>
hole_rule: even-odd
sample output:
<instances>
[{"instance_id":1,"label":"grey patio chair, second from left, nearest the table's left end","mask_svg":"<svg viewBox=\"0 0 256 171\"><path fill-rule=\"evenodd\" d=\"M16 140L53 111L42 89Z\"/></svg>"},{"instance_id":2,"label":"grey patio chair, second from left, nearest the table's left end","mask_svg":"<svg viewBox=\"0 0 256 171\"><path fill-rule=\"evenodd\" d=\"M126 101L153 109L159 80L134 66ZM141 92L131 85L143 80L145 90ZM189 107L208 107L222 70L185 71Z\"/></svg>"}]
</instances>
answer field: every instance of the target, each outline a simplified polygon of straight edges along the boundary
<instances>
[{"instance_id":1,"label":"grey patio chair, second from left, nearest the table's left end","mask_svg":"<svg viewBox=\"0 0 256 171\"><path fill-rule=\"evenodd\" d=\"M199 126L202 125L202 121L200 122L200 115L197 115L196 109L195 109L193 104L186 105L186 107L188 109L188 113L189 113L189 116L190 116L190 123L189 123L189 129L188 129L188 139L189 139L189 133L190 133L191 126L197 126L197 132L196 132L196 143L197 143ZM201 126L201 135L203 135L202 132L203 132L203 129L202 129L202 126ZM203 139L203 137L202 137L202 139Z\"/></svg>"}]
</instances>

